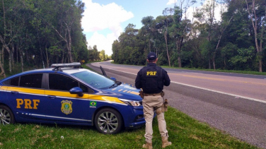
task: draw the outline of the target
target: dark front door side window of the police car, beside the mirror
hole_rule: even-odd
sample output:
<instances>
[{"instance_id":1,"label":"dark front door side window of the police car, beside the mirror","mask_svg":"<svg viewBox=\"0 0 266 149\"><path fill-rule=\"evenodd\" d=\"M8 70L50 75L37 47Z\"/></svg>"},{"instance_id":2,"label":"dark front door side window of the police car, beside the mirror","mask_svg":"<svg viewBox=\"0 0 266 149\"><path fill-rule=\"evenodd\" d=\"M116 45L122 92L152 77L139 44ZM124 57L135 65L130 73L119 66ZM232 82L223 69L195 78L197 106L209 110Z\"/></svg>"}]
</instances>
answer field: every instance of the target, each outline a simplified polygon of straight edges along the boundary
<instances>
[{"instance_id":1,"label":"dark front door side window of the police car, beside the mirror","mask_svg":"<svg viewBox=\"0 0 266 149\"><path fill-rule=\"evenodd\" d=\"M50 90L69 91L71 88L79 87L79 82L68 76L49 73Z\"/></svg>"}]
</instances>

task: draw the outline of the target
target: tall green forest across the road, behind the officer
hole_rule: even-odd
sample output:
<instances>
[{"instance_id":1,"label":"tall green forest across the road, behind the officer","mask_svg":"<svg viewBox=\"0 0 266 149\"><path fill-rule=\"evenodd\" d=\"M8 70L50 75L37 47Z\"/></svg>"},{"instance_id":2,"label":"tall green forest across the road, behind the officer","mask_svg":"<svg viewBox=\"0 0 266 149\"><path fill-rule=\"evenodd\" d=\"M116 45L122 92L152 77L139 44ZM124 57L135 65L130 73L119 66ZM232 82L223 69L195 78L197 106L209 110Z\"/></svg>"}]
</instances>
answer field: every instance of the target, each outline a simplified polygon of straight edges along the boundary
<instances>
[{"instance_id":1,"label":"tall green forest across the road, behind the officer","mask_svg":"<svg viewBox=\"0 0 266 149\"><path fill-rule=\"evenodd\" d=\"M207 0L189 19L195 2L179 1L162 16L144 16L140 29L127 25L112 43L112 59L145 65L146 55L156 52L159 66L266 71L265 0Z\"/></svg>"}]
</instances>

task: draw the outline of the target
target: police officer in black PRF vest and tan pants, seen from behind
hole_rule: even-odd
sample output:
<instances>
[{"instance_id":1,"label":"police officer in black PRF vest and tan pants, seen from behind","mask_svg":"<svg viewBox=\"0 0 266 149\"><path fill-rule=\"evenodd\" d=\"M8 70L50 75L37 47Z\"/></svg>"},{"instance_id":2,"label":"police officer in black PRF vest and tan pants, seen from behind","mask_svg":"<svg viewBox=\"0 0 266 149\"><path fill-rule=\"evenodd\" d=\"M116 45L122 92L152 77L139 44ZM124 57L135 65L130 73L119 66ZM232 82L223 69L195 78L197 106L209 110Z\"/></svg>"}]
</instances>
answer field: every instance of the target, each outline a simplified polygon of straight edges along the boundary
<instances>
[{"instance_id":1,"label":"police officer in black PRF vest and tan pants, seen from behind","mask_svg":"<svg viewBox=\"0 0 266 149\"><path fill-rule=\"evenodd\" d=\"M161 111L163 105L163 85L170 85L170 78L163 68L156 66L158 58L154 52L150 52L147 56L148 65L141 68L137 73L135 80L136 88L142 88L144 98L142 100L144 107L144 118L146 121L146 143L142 148L152 148L152 120L154 118L154 111L156 111L158 119L158 128L161 133L162 147L165 148L172 143L168 141L168 131L166 130L166 120L164 119L164 112Z\"/></svg>"}]
</instances>

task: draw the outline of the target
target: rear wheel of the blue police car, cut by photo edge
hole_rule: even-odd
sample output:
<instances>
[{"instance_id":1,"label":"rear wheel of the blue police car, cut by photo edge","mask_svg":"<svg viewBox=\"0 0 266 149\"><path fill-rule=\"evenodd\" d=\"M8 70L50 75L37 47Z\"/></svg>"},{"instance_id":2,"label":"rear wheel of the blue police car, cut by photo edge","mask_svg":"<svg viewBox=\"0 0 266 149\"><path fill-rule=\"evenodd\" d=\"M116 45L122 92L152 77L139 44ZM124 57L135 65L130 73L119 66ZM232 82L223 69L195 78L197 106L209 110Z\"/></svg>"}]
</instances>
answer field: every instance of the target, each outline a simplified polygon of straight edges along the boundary
<instances>
[{"instance_id":1,"label":"rear wheel of the blue police car, cut by photo edge","mask_svg":"<svg viewBox=\"0 0 266 149\"><path fill-rule=\"evenodd\" d=\"M14 115L8 107L0 105L0 125L14 124Z\"/></svg>"}]
</instances>

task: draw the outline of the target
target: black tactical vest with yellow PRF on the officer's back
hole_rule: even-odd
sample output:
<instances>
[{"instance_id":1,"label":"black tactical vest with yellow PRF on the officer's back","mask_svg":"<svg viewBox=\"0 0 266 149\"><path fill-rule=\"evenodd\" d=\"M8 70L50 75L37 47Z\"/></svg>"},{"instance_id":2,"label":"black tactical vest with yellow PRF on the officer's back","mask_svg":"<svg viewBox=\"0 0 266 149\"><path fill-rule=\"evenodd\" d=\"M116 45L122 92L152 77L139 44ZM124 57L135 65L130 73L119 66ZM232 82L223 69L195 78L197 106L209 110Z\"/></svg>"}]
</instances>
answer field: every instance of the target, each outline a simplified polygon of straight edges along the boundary
<instances>
[{"instance_id":1,"label":"black tactical vest with yellow PRF on the officer's back","mask_svg":"<svg viewBox=\"0 0 266 149\"><path fill-rule=\"evenodd\" d=\"M144 66L142 68L141 86L144 93L161 93L163 90L162 68L159 66Z\"/></svg>"}]
</instances>

